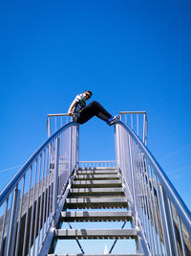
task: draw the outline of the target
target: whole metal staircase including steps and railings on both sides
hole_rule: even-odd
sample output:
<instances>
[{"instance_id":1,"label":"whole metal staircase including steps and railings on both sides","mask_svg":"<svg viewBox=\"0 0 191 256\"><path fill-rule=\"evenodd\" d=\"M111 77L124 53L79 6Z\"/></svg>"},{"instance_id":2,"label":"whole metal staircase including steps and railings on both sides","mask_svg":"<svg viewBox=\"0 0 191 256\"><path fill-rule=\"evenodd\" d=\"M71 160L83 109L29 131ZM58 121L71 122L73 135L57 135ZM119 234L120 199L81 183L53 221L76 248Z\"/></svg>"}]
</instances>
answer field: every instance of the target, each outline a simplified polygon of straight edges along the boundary
<instances>
[{"instance_id":1,"label":"whole metal staircase including steps and railings on both sides","mask_svg":"<svg viewBox=\"0 0 191 256\"><path fill-rule=\"evenodd\" d=\"M79 125L69 119L48 116L48 139L1 191L0 256L83 256L82 239L113 239L106 255L122 241L120 255L191 255L191 213L147 148L146 113L120 112L114 161L79 161ZM57 254L69 240L81 253Z\"/></svg>"}]
</instances>

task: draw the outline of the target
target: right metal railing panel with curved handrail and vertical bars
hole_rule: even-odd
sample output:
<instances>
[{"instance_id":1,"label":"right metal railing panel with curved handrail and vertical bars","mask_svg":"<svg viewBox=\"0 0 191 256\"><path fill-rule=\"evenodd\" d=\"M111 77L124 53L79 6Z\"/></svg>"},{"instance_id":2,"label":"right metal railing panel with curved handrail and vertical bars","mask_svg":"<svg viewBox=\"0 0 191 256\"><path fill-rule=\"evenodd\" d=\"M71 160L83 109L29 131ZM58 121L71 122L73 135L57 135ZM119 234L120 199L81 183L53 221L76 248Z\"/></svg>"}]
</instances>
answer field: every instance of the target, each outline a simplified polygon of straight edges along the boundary
<instances>
[{"instance_id":1,"label":"right metal railing panel with curved handrail and vertical bars","mask_svg":"<svg viewBox=\"0 0 191 256\"><path fill-rule=\"evenodd\" d=\"M140 252L188 255L191 250L188 208L136 132L121 121L115 127L117 164L140 232Z\"/></svg>"}]
</instances>

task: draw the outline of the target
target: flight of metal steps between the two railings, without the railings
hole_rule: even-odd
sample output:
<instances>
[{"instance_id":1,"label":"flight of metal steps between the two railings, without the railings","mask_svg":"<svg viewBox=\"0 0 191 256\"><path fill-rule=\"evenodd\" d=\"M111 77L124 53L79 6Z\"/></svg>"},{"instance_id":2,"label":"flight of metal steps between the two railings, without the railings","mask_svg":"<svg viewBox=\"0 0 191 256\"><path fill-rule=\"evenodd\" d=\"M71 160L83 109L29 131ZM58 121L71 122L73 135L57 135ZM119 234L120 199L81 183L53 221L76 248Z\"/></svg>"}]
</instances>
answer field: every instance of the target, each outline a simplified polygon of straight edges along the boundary
<instances>
[{"instance_id":1,"label":"flight of metal steps between the two railings, without the railings","mask_svg":"<svg viewBox=\"0 0 191 256\"><path fill-rule=\"evenodd\" d=\"M125 208L126 211L115 209ZM68 211L83 209L83 211ZM88 211L87 209L99 209ZM110 209L101 211L101 209ZM111 210L114 209L114 210ZM132 221L131 211L124 194L120 174L116 168L78 169L73 176L71 189L66 198L57 226L61 222L75 221ZM53 244L57 239L138 239L136 228L115 229L54 229ZM55 245L55 244L54 244ZM70 254L56 254L70 255ZM77 254L75 254L77 255ZM85 254L84 254L85 255ZM88 254L89 255L89 254ZM96 254L97 255L97 254ZM111 255L111 254L109 254ZM128 254L142 256L144 254ZM48 254L55 256L55 254Z\"/></svg>"}]
</instances>

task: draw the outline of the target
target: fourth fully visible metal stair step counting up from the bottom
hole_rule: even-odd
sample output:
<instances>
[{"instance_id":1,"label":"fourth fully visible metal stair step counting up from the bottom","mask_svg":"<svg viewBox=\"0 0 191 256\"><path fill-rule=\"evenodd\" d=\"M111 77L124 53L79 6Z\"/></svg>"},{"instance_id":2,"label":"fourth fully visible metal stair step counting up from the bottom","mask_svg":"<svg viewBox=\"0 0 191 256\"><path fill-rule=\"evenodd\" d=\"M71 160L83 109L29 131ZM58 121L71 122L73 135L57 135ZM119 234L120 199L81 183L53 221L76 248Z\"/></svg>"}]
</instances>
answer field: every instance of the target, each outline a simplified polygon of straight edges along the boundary
<instances>
[{"instance_id":1,"label":"fourth fully visible metal stair step counting up from the bottom","mask_svg":"<svg viewBox=\"0 0 191 256\"><path fill-rule=\"evenodd\" d=\"M124 196L123 188L78 188L70 189L69 196Z\"/></svg>"}]
</instances>

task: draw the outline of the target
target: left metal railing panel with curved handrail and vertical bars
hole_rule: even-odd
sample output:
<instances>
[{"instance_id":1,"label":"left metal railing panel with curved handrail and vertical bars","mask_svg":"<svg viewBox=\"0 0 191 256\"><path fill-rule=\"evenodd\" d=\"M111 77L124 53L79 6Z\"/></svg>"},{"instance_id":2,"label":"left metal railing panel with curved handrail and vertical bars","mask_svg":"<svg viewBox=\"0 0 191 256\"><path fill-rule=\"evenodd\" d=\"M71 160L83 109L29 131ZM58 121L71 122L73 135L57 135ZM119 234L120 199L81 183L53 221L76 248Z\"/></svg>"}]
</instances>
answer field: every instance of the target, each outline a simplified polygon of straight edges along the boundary
<instances>
[{"instance_id":1,"label":"left metal railing panel with curved handrail and vertical bars","mask_svg":"<svg viewBox=\"0 0 191 256\"><path fill-rule=\"evenodd\" d=\"M78 124L68 123L12 177L0 194L0 255L48 253L77 162Z\"/></svg>"}]
</instances>

